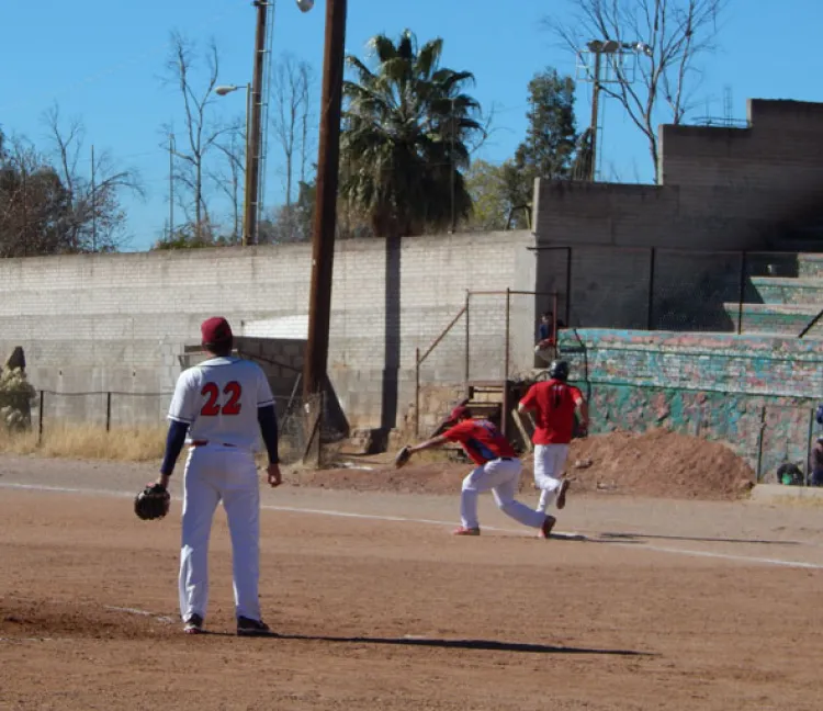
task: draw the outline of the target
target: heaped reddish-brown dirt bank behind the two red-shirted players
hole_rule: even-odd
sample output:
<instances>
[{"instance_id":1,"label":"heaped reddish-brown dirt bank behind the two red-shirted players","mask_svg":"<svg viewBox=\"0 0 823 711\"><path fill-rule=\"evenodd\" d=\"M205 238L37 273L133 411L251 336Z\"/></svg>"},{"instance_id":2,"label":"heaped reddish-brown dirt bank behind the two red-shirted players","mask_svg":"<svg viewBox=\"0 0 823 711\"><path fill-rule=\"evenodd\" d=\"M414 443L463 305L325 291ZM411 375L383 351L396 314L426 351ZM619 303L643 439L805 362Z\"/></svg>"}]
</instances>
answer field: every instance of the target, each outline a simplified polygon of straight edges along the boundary
<instances>
[{"instance_id":1,"label":"heaped reddish-brown dirt bank behind the two red-shirted players","mask_svg":"<svg viewBox=\"0 0 823 711\"><path fill-rule=\"evenodd\" d=\"M293 472L288 479L296 486L455 495L470 469L467 463L418 463L413 459L395 470L392 456L352 458L346 467ZM575 494L713 500L741 498L755 479L748 464L724 444L667 430L610 432L575 440L565 474L573 481ZM531 458L525 462L520 488L532 488Z\"/></svg>"}]
</instances>

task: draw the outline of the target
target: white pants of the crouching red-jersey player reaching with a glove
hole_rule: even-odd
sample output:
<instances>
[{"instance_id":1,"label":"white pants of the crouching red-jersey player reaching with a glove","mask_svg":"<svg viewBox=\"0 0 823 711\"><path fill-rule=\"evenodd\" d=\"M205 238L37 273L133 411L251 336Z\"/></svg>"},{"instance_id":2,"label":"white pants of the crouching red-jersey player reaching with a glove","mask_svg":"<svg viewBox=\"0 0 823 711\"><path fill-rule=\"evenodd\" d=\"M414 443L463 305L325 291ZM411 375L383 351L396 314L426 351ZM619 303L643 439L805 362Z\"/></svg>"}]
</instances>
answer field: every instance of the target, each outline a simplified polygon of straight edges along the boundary
<instances>
[{"instance_id":1,"label":"white pants of the crouching red-jersey player reaching with a glove","mask_svg":"<svg viewBox=\"0 0 823 711\"><path fill-rule=\"evenodd\" d=\"M465 528L480 528L477 520L477 497L492 490L497 507L516 521L531 528L540 528L545 515L529 508L515 499L520 482L522 464L519 459L496 459L473 469L463 479L460 496L460 518Z\"/></svg>"}]
</instances>

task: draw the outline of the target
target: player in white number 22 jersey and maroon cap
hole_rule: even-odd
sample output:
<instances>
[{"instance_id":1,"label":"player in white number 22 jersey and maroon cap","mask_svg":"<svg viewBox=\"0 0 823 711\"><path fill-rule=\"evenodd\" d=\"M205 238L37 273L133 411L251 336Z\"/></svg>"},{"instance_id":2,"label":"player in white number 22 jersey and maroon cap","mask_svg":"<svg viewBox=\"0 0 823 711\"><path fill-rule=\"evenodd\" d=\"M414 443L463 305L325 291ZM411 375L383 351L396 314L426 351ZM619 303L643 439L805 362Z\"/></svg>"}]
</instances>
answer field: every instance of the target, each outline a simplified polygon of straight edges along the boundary
<instances>
[{"instance_id":1,"label":"player in white number 22 jersey and maroon cap","mask_svg":"<svg viewBox=\"0 0 823 711\"><path fill-rule=\"evenodd\" d=\"M258 432L269 455L268 481L281 483L274 398L257 363L232 356L232 328L214 317L201 326L208 360L181 373L169 407L169 433L159 484L168 486L183 445L180 614L198 634L208 605L208 538L222 500L232 535L237 634L271 634L258 600L260 489L255 464Z\"/></svg>"}]
</instances>

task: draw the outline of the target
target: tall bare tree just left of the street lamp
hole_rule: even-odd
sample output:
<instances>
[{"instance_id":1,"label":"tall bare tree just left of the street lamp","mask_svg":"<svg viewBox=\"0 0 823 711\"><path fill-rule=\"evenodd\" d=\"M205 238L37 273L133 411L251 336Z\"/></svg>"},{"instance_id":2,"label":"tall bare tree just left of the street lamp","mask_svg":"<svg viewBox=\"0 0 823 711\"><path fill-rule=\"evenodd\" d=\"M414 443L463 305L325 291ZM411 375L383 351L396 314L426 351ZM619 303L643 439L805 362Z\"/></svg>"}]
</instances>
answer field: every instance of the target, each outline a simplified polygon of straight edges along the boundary
<instances>
[{"instance_id":1,"label":"tall bare tree just left of the street lamp","mask_svg":"<svg viewBox=\"0 0 823 711\"><path fill-rule=\"evenodd\" d=\"M211 119L210 106L214 100L214 88L219 72L219 54L214 41L210 41L205 53L205 74L201 82L196 78L196 64L202 59L196 53L195 44L178 32L171 34L171 49L166 61L165 82L176 84L183 99L185 149L174 150L180 159L174 171L174 180L189 192L191 200L181 206L194 222L198 239L203 237L203 229L210 225L208 206L205 200L205 156L216 145L217 139L227 131L226 126L215 124ZM200 83L200 87L196 84ZM170 126L164 126L164 135L172 133ZM193 206L193 215L192 213Z\"/></svg>"}]
</instances>

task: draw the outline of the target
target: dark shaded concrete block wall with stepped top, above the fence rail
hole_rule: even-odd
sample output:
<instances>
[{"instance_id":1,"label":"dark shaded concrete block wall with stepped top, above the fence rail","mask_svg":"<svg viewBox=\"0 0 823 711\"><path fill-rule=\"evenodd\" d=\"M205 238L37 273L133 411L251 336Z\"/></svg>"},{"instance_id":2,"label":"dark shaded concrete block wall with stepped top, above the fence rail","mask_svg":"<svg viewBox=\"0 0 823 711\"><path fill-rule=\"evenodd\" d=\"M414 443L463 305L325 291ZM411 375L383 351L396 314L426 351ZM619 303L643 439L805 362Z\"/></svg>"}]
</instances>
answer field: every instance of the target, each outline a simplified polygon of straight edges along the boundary
<instances>
[{"instance_id":1,"label":"dark shaded concrete block wall with stepped top, above the fence rail","mask_svg":"<svg viewBox=\"0 0 823 711\"><path fill-rule=\"evenodd\" d=\"M819 218L823 104L749 100L747 128L665 125L657 185L538 181L543 245L764 249Z\"/></svg>"}]
</instances>

